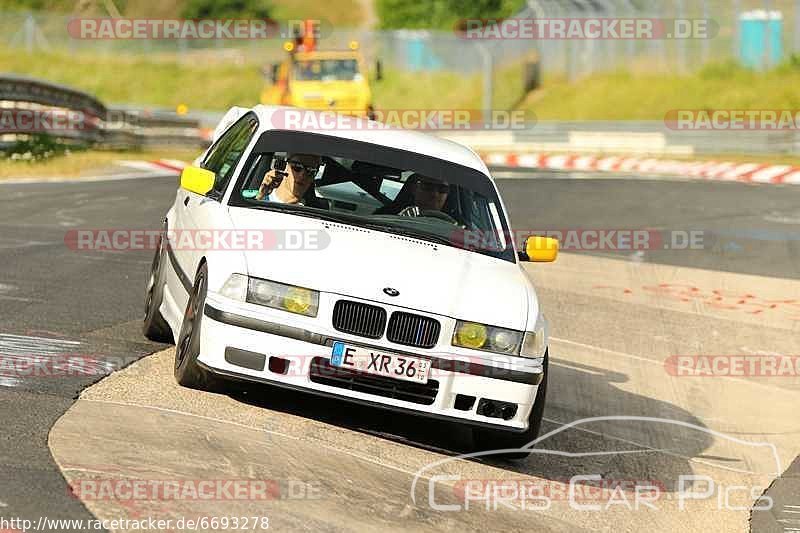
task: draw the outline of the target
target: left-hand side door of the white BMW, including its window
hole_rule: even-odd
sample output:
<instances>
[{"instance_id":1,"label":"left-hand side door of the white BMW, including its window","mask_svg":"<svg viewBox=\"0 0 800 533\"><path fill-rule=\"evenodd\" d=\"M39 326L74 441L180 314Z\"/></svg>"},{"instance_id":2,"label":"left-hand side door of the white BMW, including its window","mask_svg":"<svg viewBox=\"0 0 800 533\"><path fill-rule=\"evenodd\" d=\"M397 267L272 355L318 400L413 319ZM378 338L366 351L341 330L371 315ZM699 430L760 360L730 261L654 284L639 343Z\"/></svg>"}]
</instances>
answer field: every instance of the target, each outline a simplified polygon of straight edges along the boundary
<instances>
[{"instance_id":1,"label":"left-hand side door of the white BMW, including its window","mask_svg":"<svg viewBox=\"0 0 800 533\"><path fill-rule=\"evenodd\" d=\"M173 280L170 292L174 292L176 303L181 310L186 308L191 284L207 252L206 245L213 243L213 234L231 228L230 217L222 205L225 190L233 178L236 167L244 154L255 131L258 119L253 113L235 122L211 147L200 166L216 176L214 187L205 195L185 189L178 191L174 221L170 229L171 243L178 267L177 279ZM212 238L201 238L201 233ZM183 278L183 279L181 279Z\"/></svg>"}]
</instances>

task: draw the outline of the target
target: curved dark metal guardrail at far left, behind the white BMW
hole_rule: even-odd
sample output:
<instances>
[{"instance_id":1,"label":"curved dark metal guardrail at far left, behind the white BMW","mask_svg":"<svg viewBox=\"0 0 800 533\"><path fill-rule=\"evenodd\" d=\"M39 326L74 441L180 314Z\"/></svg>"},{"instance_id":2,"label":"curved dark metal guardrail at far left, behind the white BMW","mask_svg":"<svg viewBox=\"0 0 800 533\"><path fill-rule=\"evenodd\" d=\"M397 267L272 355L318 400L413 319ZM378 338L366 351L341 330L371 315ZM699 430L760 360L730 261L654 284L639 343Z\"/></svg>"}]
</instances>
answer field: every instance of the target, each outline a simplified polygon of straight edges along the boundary
<instances>
[{"instance_id":1,"label":"curved dark metal guardrail at far left, behind the white BMW","mask_svg":"<svg viewBox=\"0 0 800 533\"><path fill-rule=\"evenodd\" d=\"M4 143L33 133L100 148L205 143L196 119L164 111L109 109L93 95L72 87L14 74L0 74L0 111L11 117L0 121ZM36 114L35 127L30 120L22 124L14 119L25 112ZM52 117L63 120L56 124L59 121L48 120Z\"/></svg>"}]
</instances>

